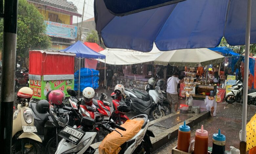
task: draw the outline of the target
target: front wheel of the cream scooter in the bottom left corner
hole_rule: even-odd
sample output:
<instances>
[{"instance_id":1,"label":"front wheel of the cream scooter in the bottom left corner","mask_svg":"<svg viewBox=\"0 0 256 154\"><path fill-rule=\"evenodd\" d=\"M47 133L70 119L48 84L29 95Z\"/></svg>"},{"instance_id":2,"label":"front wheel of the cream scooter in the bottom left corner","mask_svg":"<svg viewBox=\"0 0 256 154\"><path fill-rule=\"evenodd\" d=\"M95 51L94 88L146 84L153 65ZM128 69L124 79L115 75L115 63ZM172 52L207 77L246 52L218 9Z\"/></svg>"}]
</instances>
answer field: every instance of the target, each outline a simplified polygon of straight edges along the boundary
<instances>
[{"instance_id":1,"label":"front wheel of the cream scooter in the bottom left corner","mask_svg":"<svg viewBox=\"0 0 256 154\"><path fill-rule=\"evenodd\" d=\"M23 143L23 145L21 145L21 143ZM25 154L42 154L43 153L39 142L34 141L32 139L24 138L24 139L16 140L16 142L11 146L12 154L22 154L22 146L24 147L23 153Z\"/></svg>"}]
</instances>

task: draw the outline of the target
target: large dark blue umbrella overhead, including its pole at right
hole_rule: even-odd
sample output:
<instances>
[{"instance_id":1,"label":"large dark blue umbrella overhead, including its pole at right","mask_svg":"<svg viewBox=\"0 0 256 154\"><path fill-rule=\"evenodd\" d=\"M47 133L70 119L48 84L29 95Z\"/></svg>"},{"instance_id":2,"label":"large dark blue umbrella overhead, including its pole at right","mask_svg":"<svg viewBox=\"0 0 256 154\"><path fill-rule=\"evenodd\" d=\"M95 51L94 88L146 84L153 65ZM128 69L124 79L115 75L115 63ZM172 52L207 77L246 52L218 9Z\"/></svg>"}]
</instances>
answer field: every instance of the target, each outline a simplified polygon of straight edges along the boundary
<instances>
[{"instance_id":1,"label":"large dark blue umbrella overhead, including its pole at right","mask_svg":"<svg viewBox=\"0 0 256 154\"><path fill-rule=\"evenodd\" d=\"M251 8L256 7L256 1L185 0L171 5L161 1L159 8L145 1L139 4L129 1L123 7L133 6L134 10L121 12L126 16L119 17L115 14L115 10L117 15L120 13L119 8L113 6L109 11L106 0L95 0L96 30L106 47L148 52L155 42L161 51L214 48L225 37L229 45L245 45L243 101L247 102L249 45L256 43L256 20L251 21L251 16L256 16L256 9ZM108 2L115 3L114 0ZM147 9L140 11L143 7ZM241 147L246 147L246 112L247 103L244 103Z\"/></svg>"}]
</instances>

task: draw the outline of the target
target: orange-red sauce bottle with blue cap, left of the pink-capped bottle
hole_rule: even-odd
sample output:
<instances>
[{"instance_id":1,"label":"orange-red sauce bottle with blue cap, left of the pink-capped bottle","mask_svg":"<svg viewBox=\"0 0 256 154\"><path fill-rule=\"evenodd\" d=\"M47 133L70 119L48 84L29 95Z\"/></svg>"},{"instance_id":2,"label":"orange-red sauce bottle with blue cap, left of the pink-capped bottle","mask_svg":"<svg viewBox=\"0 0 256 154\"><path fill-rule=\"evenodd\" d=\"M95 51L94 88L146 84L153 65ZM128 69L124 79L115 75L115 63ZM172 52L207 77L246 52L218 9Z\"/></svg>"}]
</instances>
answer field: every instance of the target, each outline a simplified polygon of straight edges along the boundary
<instances>
[{"instance_id":1,"label":"orange-red sauce bottle with blue cap, left of the pink-capped bottle","mask_svg":"<svg viewBox=\"0 0 256 154\"><path fill-rule=\"evenodd\" d=\"M186 125L186 121L184 121L184 125L180 125L179 133L178 133L178 146L177 149L188 152L190 143L190 127Z\"/></svg>"}]
</instances>

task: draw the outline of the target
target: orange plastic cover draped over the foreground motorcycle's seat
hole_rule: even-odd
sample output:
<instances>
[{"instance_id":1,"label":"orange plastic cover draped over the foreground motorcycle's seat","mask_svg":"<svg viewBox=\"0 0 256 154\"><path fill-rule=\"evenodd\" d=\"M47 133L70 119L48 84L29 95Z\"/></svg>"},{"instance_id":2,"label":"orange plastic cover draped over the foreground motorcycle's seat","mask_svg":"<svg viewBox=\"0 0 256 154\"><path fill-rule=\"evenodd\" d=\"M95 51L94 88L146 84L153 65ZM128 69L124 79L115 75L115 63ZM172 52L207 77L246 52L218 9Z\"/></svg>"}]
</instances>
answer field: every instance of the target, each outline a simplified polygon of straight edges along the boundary
<instances>
[{"instance_id":1,"label":"orange plastic cover draped over the foreground motorcycle's seat","mask_svg":"<svg viewBox=\"0 0 256 154\"><path fill-rule=\"evenodd\" d=\"M116 129L123 135L123 137L121 137L121 135L116 131L108 134L99 145L99 154L118 154L121 150L120 146L126 141L132 139L139 132L143 123L144 120L142 118L127 120L123 125L121 125L126 129L126 131Z\"/></svg>"}]
</instances>

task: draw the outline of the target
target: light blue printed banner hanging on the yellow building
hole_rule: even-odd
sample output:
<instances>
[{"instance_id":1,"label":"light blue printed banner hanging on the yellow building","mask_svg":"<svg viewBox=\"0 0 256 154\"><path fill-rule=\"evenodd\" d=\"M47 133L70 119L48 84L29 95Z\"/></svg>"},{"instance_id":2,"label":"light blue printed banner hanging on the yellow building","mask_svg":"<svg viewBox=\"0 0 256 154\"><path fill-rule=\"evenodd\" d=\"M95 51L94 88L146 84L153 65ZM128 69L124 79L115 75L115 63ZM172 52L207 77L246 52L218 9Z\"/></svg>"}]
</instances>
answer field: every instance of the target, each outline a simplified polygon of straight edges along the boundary
<instances>
[{"instance_id":1,"label":"light blue printed banner hanging on the yellow building","mask_svg":"<svg viewBox=\"0 0 256 154\"><path fill-rule=\"evenodd\" d=\"M76 26L55 23L52 21L44 21L44 22L47 25L46 27L47 35L75 40L77 36Z\"/></svg>"}]
</instances>

